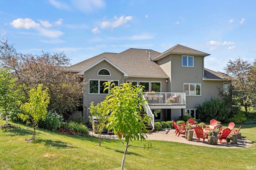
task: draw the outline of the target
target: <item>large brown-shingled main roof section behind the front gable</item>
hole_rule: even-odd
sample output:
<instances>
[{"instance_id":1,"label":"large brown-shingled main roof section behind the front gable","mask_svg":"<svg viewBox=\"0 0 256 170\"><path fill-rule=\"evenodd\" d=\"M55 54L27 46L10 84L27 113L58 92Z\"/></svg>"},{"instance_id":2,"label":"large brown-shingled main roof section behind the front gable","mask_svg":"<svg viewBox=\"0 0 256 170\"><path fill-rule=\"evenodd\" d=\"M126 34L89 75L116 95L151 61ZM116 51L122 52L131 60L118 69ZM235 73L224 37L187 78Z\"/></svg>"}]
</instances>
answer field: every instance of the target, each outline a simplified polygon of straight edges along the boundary
<instances>
[{"instance_id":1,"label":"large brown-shingled main roof section behind the front gable","mask_svg":"<svg viewBox=\"0 0 256 170\"><path fill-rule=\"evenodd\" d=\"M167 78L167 74L162 68L154 61L149 60L149 54L151 57L156 57L160 53L154 50L148 49L128 49L121 53L102 53L88 60L70 66L70 71L80 72L104 57L111 61L113 64L124 70L129 76L148 76Z\"/></svg>"}]
</instances>

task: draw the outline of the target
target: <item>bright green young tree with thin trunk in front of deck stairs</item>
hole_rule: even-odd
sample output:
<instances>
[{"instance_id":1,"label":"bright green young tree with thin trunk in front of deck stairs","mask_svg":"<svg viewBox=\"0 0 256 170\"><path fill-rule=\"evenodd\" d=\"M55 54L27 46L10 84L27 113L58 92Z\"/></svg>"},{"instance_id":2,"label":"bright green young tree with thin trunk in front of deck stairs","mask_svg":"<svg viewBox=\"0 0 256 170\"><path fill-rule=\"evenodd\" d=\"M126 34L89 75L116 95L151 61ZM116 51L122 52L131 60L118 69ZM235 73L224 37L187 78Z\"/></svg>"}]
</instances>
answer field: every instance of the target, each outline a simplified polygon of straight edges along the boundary
<instances>
[{"instance_id":1,"label":"bright green young tree with thin trunk in front of deck stairs","mask_svg":"<svg viewBox=\"0 0 256 170\"><path fill-rule=\"evenodd\" d=\"M112 82L105 82L104 85L104 91L109 89L106 99L102 102L104 112L110 113L106 127L117 134L121 142L123 138L126 142L126 144L123 143L126 146L121 166L123 170L126 152L130 147L129 142L132 140L146 141L146 133L149 131L144 122L150 124L150 117L146 114L144 114L144 118L140 116L143 104L146 103L146 100L140 97L143 95L142 86L124 83L118 87Z\"/></svg>"}]
</instances>

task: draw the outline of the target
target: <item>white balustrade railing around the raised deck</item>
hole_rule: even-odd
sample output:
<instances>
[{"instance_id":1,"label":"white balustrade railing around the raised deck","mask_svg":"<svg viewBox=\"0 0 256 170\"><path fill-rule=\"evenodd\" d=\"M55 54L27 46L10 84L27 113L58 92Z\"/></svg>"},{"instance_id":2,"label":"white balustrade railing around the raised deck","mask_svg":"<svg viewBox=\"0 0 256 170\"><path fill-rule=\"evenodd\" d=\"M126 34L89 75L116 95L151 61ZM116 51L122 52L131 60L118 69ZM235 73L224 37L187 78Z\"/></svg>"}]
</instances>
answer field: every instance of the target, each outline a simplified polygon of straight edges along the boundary
<instances>
[{"instance_id":1,"label":"white balustrade railing around the raised deck","mask_svg":"<svg viewBox=\"0 0 256 170\"><path fill-rule=\"evenodd\" d=\"M149 105L183 105L186 104L186 93L144 92L143 96Z\"/></svg>"}]
</instances>

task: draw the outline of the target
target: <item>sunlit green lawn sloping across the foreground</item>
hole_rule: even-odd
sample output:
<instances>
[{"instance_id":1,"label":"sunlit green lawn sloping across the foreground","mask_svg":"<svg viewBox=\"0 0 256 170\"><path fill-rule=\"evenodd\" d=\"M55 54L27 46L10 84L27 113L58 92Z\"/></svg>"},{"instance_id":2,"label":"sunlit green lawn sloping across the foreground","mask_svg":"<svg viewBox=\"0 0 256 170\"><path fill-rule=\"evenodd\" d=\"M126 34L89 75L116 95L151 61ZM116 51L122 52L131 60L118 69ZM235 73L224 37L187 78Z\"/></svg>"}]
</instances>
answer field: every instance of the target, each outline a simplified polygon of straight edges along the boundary
<instances>
[{"instance_id":1,"label":"sunlit green lawn sloping across the foreground","mask_svg":"<svg viewBox=\"0 0 256 170\"><path fill-rule=\"evenodd\" d=\"M0 120L0 125L5 122ZM124 145L115 139L66 135L18 125L18 129L0 130L0 169L4 170L119 170ZM236 125L239 127L239 125ZM246 149L223 149L168 141L147 141L152 148L129 147L126 170L246 169L256 166L256 125L242 125L242 136L254 142ZM142 145L133 141L131 145Z\"/></svg>"}]
</instances>

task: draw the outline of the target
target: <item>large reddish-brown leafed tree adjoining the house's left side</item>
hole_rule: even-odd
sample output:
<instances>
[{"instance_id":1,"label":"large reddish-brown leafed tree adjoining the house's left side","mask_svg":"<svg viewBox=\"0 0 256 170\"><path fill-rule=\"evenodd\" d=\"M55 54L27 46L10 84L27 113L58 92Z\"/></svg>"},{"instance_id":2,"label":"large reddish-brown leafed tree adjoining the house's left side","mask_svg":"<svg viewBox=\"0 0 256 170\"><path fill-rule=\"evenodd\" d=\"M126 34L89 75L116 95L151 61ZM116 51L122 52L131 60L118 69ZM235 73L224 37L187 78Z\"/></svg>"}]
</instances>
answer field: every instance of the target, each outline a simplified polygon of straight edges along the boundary
<instances>
[{"instance_id":1,"label":"large reddish-brown leafed tree adjoining the house's left side","mask_svg":"<svg viewBox=\"0 0 256 170\"><path fill-rule=\"evenodd\" d=\"M69 72L70 59L64 53L45 53L41 55L22 54L8 45L8 41L0 41L0 68L9 68L16 84L25 84L23 92L27 92L44 84L49 88L51 96L49 110L66 116L82 106L82 77ZM29 98L29 96L26 96Z\"/></svg>"}]
</instances>

